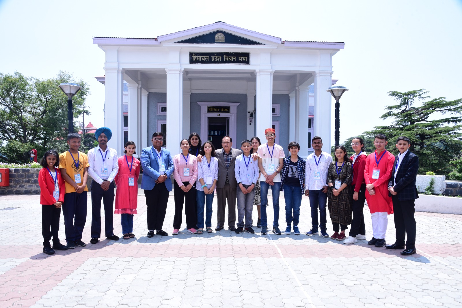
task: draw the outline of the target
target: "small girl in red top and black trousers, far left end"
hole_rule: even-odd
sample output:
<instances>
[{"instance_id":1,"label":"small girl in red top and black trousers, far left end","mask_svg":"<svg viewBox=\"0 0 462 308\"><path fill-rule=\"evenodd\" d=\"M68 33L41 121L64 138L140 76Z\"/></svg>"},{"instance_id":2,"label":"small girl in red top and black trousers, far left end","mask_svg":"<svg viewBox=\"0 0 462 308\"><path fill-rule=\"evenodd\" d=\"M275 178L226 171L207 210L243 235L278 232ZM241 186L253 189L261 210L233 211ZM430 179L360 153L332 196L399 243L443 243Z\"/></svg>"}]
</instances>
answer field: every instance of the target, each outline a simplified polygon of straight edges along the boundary
<instances>
[{"instance_id":1,"label":"small girl in red top and black trousers, far left end","mask_svg":"<svg viewBox=\"0 0 462 308\"><path fill-rule=\"evenodd\" d=\"M53 255L54 249L67 249L67 246L61 244L58 238L59 218L66 184L61 178L59 169L55 168L59 166L58 152L55 150L45 152L40 164L43 166L42 170L38 172L40 204L42 204L43 252L47 255ZM53 248L50 245L51 237L53 237Z\"/></svg>"}]
</instances>

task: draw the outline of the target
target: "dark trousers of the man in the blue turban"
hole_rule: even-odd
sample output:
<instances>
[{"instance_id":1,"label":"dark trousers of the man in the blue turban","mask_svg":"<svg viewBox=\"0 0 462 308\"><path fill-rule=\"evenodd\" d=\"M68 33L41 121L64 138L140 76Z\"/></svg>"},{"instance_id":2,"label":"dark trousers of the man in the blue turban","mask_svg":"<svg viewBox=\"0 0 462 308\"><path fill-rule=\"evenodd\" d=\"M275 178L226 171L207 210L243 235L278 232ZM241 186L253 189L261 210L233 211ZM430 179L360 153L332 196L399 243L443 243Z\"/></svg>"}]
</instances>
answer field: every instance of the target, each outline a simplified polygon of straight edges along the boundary
<instances>
[{"instance_id":1,"label":"dark trousers of the man in the blue turban","mask_svg":"<svg viewBox=\"0 0 462 308\"><path fill-rule=\"evenodd\" d=\"M108 190L103 190L101 184L91 181L91 237L101 237L101 199L104 205L104 235L114 235L114 182Z\"/></svg>"}]
</instances>

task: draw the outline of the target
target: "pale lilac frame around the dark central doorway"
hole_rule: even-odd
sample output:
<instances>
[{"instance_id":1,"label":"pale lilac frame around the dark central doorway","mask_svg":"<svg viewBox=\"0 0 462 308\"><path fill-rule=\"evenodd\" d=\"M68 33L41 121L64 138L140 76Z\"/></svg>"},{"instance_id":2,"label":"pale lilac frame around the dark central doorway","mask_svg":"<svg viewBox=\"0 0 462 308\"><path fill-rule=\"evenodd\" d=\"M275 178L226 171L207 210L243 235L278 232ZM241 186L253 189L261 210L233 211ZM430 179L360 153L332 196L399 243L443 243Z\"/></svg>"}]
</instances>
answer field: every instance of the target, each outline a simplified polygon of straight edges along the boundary
<instances>
[{"instance_id":1,"label":"pale lilac frame around the dark central doorway","mask_svg":"<svg viewBox=\"0 0 462 308\"><path fill-rule=\"evenodd\" d=\"M229 118L230 119L230 130L229 135L234 142L236 142L236 133L237 133L237 106L240 103L219 103L213 101L198 101L197 104L201 106L201 136L205 142L208 139L208 118L209 117L219 117ZM230 107L230 113L207 113L208 106L218 106L218 107ZM207 136L207 138L205 138ZM204 139L205 138L205 139Z\"/></svg>"}]
</instances>

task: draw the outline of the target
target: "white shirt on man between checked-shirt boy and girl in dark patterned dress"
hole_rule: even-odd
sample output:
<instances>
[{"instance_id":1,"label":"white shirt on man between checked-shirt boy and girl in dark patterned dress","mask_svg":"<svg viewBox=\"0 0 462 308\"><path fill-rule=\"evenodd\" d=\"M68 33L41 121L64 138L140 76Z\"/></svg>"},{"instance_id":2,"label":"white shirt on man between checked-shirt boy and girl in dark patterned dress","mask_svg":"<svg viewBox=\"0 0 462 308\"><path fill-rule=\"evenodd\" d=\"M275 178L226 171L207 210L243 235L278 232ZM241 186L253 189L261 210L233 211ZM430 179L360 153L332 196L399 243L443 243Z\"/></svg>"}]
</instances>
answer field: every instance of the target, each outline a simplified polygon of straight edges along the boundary
<instances>
[{"instance_id":1,"label":"white shirt on man between checked-shirt boy and girl in dark patterned dress","mask_svg":"<svg viewBox=\"0 0 462 308\"><path fill-rule=\"evenodd\" d=\"M315 158L318 161L317 165ZM332 156L324 151L319 157L314 153L308 155L306 158L305 190L321 190L323 186L328 186L327 172L331 162ZM320 172L319 180L315 178L315 172Z\"/></svg>"}]
</instances>

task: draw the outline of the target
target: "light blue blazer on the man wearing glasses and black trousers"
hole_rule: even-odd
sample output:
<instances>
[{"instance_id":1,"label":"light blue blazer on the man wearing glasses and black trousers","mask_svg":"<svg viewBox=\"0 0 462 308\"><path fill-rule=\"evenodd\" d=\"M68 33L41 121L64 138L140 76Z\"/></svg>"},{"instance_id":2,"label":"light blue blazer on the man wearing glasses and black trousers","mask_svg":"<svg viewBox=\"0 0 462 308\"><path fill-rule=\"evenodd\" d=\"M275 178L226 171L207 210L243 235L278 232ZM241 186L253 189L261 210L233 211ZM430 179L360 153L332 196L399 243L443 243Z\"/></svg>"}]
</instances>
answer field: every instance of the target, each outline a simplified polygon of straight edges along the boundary
<instances>
[{"instance_id":1,"label":"light blue blazer on the man wearing glasses and black trousers","mask_svg":"<svg viewBox=\"0 0 462 308\"><path fill-rule=\"evenodd\" d=\"M170 155L170 151L166 148L162 148L160 151L160 159L165 164L165 175L167 179L165 180L165 187L168 191L172 190L172 181L170 175L173 173L173 160ZM142 190L152 190L156 185L156 180L162 174L159 173L159 159L154 150L154 147L143 148L141 150L141 166L143 166L143 177L141 178L141 189Z\"/></svg>"}]
</instances>

